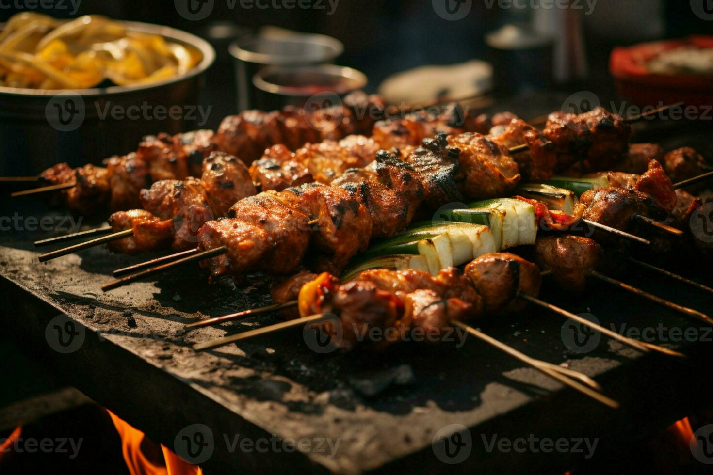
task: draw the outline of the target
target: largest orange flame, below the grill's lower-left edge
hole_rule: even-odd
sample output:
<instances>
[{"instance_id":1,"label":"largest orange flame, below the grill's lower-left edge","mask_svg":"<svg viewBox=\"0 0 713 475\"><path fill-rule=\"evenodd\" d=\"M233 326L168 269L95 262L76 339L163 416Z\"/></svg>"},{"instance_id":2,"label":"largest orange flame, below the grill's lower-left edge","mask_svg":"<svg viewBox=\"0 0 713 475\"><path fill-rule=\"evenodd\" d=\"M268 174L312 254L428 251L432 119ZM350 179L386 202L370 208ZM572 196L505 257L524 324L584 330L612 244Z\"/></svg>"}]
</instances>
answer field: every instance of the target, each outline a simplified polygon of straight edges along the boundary
<instances>
[{"instance_id":1,"label":"largest orange flame, below the grill's lower-left edge","mask_svg":"<svg viewBox=\"0 0 713 475\"><path fill-rule=\"evenodd\" d=\"M200 467L183 461L163 444L151 442L143 432L108 409L106 412L121 438L121 451L131 475L202 475ZM163 454L163 460L157 454Z\"/></svg>"}]
</instances>

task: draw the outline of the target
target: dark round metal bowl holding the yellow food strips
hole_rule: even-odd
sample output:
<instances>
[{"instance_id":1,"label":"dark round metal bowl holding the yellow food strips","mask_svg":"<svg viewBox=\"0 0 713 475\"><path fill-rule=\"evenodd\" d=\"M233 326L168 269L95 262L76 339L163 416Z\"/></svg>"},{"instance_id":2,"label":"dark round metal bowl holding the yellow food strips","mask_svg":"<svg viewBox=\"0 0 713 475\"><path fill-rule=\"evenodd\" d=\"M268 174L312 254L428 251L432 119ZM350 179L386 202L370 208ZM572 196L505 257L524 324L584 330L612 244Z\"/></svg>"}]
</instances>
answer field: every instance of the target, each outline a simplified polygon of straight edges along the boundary
<instances>
[{"instance_id":1,"label":"dark round metal bowl holding the yellow food strips","mask_svg":"<svg viewBox=\"0 0 713 475\"><path fill-rule=\"evenodd\" d=\"M202 125L199 96L204 73L215 61L212 46L167 26L122 23L133 31L193 46L202 53L202 61L188 73L150 85L78 90L0 87L1 175L35 174L57 162L100 163L135 151L144 135L174 134Z\"/></svg>"}]
</instances>

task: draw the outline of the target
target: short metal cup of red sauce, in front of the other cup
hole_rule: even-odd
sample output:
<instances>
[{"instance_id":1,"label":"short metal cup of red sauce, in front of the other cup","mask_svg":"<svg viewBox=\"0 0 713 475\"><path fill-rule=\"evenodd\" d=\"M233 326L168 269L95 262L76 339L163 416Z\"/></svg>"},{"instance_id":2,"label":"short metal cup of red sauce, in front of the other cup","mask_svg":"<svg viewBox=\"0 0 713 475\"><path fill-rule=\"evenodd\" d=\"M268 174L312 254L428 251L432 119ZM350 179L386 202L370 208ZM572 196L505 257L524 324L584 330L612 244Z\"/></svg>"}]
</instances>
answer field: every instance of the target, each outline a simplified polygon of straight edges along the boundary
<instances>
[{"instance_id":1,"label":"short metal cup of red sauce, in front of the other cup","mask_svg":"<svg viewBox=\"0 0 713 475\"><path fill-rule=\"evenodd\" d=\"M346 66L272 66L257 72L252 78L257 90L257 108L281 109L286 105L298 108L323 108L335 105L344 95L364 88L366 75Z\"/></svg>"}]
</instances>

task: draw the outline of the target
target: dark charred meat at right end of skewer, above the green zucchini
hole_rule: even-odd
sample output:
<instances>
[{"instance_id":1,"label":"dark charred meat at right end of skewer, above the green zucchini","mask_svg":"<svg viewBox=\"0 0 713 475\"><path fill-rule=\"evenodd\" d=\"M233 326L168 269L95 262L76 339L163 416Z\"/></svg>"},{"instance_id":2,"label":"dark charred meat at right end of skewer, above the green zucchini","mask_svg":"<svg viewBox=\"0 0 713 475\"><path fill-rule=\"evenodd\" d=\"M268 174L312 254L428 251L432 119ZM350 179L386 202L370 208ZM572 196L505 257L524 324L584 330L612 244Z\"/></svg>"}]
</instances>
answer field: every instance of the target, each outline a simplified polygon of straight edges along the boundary
<instances>
[{"instance_id":1,"label":"dark charred meat at right end of skewer, above the green zucchini","mask_svg":"<svg viewBox=\"0 0 713 475\"><path fill-rule=\"evenodd\" d=\"M582 172L592 172L611 169L629 150L631 127L618 115L599 107L579 115L552 113L543 133L555 142L555 171L580 162Z\"/></svg>"}]
</instances>

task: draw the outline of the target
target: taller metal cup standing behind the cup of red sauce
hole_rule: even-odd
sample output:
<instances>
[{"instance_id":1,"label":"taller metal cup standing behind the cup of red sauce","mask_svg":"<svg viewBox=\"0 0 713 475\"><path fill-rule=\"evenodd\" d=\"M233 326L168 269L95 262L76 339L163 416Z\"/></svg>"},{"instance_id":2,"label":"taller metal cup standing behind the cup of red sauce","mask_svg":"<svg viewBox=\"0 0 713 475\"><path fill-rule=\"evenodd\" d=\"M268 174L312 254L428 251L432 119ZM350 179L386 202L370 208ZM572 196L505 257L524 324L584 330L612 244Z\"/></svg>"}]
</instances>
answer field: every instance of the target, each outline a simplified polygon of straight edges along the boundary
<instances>
[{"instance_id":1,"label":"taller metal cup standing behind the cup of red sauce","mask_svg":"<svg viewBox=\"0 0 713 475\"><path fill-rule=\"evenodd\" d=\"M237 110L256 107L252 78L265 66L308 66L333 63L344 51L331 36L289 33L280 36L247 35L231 43L237 78Z\"/></svg>"}]
</instances>

